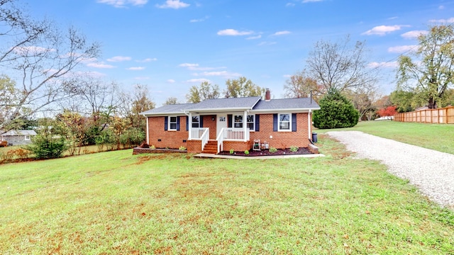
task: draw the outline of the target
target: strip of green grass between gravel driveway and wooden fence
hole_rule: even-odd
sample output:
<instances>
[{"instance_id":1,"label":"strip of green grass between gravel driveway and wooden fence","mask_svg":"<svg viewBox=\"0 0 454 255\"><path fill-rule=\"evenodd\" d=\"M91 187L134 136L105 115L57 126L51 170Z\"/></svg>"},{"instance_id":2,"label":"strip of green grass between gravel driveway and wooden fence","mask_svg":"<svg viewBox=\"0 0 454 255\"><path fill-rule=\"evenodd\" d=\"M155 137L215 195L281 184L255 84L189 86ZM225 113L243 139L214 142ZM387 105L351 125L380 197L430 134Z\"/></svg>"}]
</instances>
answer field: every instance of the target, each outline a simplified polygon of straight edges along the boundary
<instances>
[{"instance_id":1,"label":"strip of green grass between gravel driveway and wooden fence","mask_svg":"<svg viewBox=\"0 0 454 255\"><path fill-rule=\"evenodd\" d=\"M358 130L409 145L416 145L439 152L454 154L454 125L402 123L397 121L362 121L353 128L314 130L317 133L341 130Z\"/></svg>"}]
</instances>

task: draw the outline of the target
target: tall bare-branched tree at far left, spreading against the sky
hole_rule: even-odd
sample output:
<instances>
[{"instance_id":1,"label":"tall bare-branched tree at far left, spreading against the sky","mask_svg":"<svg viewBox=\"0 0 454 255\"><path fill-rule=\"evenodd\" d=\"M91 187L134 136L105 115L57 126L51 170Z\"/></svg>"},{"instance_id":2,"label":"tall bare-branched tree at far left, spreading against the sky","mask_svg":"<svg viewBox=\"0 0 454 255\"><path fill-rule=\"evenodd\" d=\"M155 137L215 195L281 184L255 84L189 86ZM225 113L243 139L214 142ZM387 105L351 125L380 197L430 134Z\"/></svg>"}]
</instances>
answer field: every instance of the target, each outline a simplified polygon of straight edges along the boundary
<instances>
[{"instance_id":1,"label":"tall bare-branched tree at far left, spreading against the sky","mask_svg":"<svg viewBox=\"0 0 454 255\"><path fill-rule=\"evenodd\" d=\"M98 43L88 42L73 27L64 31L50 21L29 18L15 0L0 0L0 28L0 65L16 81L13 107L0 106L0 130L13 128L11 123L24 114L46 111L75 96L81 77L77 67L99 56Z\"/></svg>"}]
</instances>

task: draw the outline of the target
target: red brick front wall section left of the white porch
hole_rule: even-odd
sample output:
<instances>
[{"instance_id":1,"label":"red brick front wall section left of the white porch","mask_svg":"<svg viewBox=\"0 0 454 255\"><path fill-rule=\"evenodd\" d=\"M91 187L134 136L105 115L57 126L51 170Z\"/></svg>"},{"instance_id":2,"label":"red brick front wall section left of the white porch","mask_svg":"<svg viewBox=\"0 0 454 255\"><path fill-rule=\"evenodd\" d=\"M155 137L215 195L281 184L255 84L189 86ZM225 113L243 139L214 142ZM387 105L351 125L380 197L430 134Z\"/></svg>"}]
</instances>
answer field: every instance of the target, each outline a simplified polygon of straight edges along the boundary
<instances>
[{"instance_id":1,"label":"red brick front wall section left of the white porch","mask_svg":"<svg viewBox=\"0 0 454 255\"><path fill-rule=\"evenodd\" d=\"M156 148L178 149L180 146L188 147L187 140L189 132L186 131L187 116L179 117L179 131L165 131L164 118L167 117L148 117L148 145L155 145ZM161 140L158 142L158 140Z\"/></svg>"}]
</instances>

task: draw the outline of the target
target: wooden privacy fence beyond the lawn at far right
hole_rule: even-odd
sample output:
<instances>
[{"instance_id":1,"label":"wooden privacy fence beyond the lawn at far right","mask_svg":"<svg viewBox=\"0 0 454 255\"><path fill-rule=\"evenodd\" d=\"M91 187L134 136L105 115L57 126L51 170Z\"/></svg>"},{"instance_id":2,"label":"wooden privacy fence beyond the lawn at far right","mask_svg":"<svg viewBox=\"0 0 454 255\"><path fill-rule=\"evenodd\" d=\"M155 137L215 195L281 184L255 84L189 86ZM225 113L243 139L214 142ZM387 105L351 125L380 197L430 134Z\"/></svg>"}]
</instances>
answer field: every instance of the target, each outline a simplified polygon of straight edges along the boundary
<instances>
[{"instance_id":1,"label":"wooden privacy fence beyond the lawn at far right","mask_svg":"<svg viewBox=\"0 0 454 255\"><path fill-rule=\"evenodd\" d=\"M423 109L409 113L396 113L394 121L454 124L454 106L437 109Z\"/></svg>"}]
</instances>

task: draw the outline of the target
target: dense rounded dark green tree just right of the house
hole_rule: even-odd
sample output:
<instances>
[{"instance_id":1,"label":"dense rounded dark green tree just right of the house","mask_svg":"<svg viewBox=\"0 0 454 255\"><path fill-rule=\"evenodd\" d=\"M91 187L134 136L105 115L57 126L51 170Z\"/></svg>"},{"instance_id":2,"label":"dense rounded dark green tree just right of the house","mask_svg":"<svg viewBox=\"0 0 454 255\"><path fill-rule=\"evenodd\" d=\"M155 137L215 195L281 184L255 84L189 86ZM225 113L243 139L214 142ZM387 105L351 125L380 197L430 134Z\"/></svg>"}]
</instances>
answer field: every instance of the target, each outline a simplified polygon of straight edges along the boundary
<instances>
[{"instance_id":1,"label":"dense rounded dark green tree just right of the house","mask_svg":"<svg viewBox=\"0 0 454 255\"><path fill-rule=\"evenodd\" d=\"M313 115L316 128L351 128L358 124L360 114L337 89L329 89L319 105L321 109Z\"/></svg>"}]
</instances>

